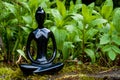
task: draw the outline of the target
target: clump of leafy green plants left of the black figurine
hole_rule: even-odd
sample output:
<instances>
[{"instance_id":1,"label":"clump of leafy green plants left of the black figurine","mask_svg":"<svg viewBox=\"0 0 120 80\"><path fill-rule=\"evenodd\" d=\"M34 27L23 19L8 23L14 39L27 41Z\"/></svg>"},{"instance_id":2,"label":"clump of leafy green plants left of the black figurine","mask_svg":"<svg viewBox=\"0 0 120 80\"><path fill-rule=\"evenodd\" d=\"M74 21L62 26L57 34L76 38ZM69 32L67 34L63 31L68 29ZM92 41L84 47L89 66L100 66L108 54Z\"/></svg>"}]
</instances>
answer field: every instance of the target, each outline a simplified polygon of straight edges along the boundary
<instances>
[{"instance_id":1,"label":"clump of leafy green plants left of the black figurine","mask_svg":"<svg viewBox=\"0 0 120 80\"><path fill-rule=\"evenodd\" d=\"M2 1L3 7L1 15L1 33L5 44L5 57L7 61L14 62L16 59L16 49L22 48L25 43L24 36L29 31L29 25L32 23L32 18L27 13L30 12L27 4L24 2L8 3ZM21 9L17 11L18 9ZM25 14L26 13L26 14ZM27 25L28 24L28 25Z\"/></svg>"}]
</instances>

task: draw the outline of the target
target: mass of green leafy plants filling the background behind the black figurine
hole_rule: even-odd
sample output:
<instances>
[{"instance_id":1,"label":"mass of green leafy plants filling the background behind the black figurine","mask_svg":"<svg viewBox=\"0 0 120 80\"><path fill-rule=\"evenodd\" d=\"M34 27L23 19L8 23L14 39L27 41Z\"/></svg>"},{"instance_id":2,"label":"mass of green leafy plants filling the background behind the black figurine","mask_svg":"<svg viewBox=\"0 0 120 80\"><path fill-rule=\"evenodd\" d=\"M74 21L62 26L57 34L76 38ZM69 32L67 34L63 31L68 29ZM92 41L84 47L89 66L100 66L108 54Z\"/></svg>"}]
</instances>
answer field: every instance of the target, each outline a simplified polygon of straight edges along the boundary
<instances>
[{"instance_id":1,"label":"mass of green leafy plants filling the background behind the black figurine","mask_svg":"<svg viewBox=\"0 0 120 80\"><path fill-rule=\"evenodd\" d=\"M37 27L34 14L42 6L47 13L44 25L53 31L57 42L56 61L119 66L120 8L117 5L119 2L115 0L96 0L89 4L82 0L1 0L0 61L15 64L19 55L25 58L23 62L28 61L24 52L27 37Z\"/></svg>"}]
</instances>

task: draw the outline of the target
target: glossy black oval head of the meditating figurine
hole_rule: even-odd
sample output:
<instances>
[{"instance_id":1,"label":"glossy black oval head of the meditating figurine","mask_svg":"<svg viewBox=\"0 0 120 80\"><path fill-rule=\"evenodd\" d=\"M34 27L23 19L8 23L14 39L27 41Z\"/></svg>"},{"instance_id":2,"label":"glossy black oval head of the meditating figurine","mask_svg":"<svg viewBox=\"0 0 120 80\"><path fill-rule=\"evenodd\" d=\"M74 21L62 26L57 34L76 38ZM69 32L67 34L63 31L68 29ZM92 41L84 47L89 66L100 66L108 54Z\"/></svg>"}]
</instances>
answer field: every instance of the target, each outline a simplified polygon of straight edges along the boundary
<instances>
[{"instance_id":1,"label":"glossy black oval head of the meditating figurine","mask_svg":"<svg viewBox=\"0 0 120 80\"><path fill-rule=\"evenodd\" d=\"M38 7L35 13L36 21L39 25L43 25L45 21L46 13L42 7Z\"/></svg>"}]
</instances>

